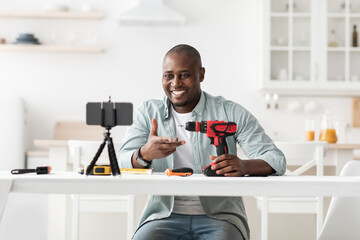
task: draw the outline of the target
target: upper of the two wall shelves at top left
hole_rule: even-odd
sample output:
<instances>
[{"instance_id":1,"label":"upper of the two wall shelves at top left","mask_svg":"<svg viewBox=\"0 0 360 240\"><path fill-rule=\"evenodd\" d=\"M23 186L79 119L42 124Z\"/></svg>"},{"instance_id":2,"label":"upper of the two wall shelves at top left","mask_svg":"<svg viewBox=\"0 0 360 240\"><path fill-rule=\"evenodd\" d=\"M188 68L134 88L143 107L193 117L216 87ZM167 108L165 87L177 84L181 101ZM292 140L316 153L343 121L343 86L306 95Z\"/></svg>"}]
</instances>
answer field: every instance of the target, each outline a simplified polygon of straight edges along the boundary
<instances>
[{"instance_id":1,"label":"upper of the two wall shelves at top left","mask_svg":"<svg viewBox=\"0 0 360 240\"><path fill-rule=\"evenodd\" d=\"M104 15L99 12L73 12L73 11L1 11L0 18L53 18L53 19L102 19Z\"/></svg>"}]
</instances>

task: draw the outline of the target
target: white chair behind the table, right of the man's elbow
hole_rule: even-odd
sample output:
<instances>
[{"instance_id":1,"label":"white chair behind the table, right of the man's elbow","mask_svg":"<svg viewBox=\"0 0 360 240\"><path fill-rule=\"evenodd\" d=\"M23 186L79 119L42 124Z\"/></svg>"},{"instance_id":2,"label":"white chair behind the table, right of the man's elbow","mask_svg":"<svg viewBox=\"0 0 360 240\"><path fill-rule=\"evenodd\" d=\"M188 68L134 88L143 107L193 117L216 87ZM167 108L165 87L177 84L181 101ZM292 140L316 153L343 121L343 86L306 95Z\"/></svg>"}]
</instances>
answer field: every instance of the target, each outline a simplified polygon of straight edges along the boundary
<instances>
[{"instance_id":1,"label":"white chair behind the table, right of the man's elbow","mask_svg":"<svg viewBox=\"0 0 360 240\"><path fill-rule=\"evenodd\" d=\"M292 171L287 169L285 175L302 175L316 167L316 175L323 176L326 142L275 142L275 145L285 154L287 166L297 166ZM267 239L269 213L316 214L318 236L323 224L323 197L257 197L257 213L261 240Z\"/></svg>"}]
</instances>

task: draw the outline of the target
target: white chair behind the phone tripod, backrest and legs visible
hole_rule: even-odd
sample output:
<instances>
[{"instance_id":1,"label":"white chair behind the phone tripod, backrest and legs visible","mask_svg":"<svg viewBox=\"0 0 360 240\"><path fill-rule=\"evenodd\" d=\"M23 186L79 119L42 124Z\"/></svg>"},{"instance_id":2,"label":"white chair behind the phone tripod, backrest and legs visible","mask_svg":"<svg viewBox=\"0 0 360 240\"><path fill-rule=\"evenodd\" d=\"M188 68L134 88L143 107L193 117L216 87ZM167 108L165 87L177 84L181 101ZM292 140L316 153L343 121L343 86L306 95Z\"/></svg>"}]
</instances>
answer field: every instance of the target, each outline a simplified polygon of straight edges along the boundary
<instances>
[{"instance_id":1,"label":"white chair behind the phone tripod, backrest and legs visible","mask_svg":"<svg viewBox=\"0 0 360 240\"><path fill-rule=\"evenodd\" d=\"M77 171L80 166L90 164L101 142L69 140L69 152L73 160L73 170ZM115 150L120 144L114 143ZM97 164L109 164L108 149L104 148ZM134 232L134 196L116 195L73 195L72 196L72 232L73 240L79 238L79 215L80 212L125 212L127 213L127 239L131 239Z\"/></svg>"}]
</instances>

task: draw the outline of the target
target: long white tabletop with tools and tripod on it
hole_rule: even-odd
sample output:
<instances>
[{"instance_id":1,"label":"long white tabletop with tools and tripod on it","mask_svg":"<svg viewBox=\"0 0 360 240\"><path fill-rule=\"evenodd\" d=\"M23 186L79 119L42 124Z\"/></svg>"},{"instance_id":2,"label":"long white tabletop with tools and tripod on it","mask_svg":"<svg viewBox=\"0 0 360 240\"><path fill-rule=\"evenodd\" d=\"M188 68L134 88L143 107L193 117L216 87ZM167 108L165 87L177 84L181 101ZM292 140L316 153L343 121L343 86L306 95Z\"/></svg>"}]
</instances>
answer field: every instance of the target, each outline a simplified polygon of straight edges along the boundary
<instances>
[{"instance_id":1,"label":"long white tabletop with tools and tripod on it","mask_svg":"<svg viewBox=\"0 0 360 240\"><path fill-rule=\"evenodd\" d=\"M6 184L8 183L8 184ZM10 184L10 186L9 186ZM84 176L71 172L11 175L0 172L0 192L45 194L153 194L200 196L360 197L360 177L168 177L164 174ZM1 189L0 189L1 190ZM3 198L5 196L1 196Z\"/></svg>"}]
</instances>

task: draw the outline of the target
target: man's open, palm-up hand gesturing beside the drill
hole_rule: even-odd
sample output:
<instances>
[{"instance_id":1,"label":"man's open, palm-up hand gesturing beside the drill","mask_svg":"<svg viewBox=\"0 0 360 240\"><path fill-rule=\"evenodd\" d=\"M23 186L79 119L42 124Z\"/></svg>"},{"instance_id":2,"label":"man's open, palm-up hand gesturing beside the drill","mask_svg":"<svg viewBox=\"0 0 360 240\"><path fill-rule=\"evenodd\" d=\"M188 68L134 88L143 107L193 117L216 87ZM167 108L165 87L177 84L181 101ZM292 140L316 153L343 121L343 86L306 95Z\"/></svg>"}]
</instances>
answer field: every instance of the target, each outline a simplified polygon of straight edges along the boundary
<instances>
[{"instance_id":1,"label":"man's open, palm-up hand gesturing beside the drill","mask_svg":"<svg viewBox=\"0 0 360 240\"><path fill-rule=\"evenodd\" d=\"M141 148L141 156L146 161L159 159L176 151L176 147L185 144L185 141L174 140L170 137L160 137L157 134L157 122L152 119L152 128L147 143Z\"/></svg>"}]
</instances>

